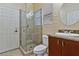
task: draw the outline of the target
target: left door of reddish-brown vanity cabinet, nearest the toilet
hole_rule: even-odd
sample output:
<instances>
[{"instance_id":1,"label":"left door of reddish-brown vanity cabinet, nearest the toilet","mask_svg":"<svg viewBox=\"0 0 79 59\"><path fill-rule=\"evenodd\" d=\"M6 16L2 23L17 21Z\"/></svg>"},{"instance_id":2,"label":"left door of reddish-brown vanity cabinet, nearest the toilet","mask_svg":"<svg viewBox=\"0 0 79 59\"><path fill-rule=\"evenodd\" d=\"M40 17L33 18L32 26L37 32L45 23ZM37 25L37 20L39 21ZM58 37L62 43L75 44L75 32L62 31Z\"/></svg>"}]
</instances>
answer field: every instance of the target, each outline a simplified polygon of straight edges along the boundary
<instances>
[{"instance_id":1,"label":"left door of reddish-brown vanity cabinet, nearest the toilet","mask_svg":"<svg viewBox=\"0 0 79 59\"><path fill-rule=\"evenodd\" d=\"M61 41L59 38L49 36L49 56L61 55Z\"/></svg>"}]
</instances>

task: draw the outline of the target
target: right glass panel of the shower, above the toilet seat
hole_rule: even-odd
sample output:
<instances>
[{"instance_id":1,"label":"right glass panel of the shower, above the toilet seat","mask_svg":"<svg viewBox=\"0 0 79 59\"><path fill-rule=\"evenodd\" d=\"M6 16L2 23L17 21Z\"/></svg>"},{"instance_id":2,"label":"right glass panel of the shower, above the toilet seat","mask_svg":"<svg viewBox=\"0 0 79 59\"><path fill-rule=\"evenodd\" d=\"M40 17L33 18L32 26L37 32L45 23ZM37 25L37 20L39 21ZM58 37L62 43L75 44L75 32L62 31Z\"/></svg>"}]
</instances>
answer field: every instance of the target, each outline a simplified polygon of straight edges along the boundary
<instances>
[{"instance_id":1,"label":"right glass panel of the shower, above the toilet seat","mask_svg":"<svg viewBox=\"0 0 79 59\"><path fill-rule=\"evenodd\" d=\"M42 43L42 9L34 11L34 36L36 45Z\"/></svg>"}]
</instances>

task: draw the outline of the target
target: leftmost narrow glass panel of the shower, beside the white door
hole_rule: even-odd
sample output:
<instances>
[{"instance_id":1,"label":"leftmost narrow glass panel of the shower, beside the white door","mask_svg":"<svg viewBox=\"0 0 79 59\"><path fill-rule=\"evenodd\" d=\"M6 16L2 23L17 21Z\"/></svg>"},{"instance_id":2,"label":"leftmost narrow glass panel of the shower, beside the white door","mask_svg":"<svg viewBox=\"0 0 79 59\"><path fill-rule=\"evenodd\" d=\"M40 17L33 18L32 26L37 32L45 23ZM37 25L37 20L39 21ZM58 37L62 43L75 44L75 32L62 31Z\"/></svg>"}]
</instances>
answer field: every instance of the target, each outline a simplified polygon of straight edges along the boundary
<instances>
[{"instance_id":1,"label":"leftmost narrow glass panel of the shower, beside the white door","mask_svg":"<svg viewBox=\"0 0 79 59\"><path fill-rule=\"evenodd\" d=\"M26 48L26 30L27 30L27 23L26 23L26 11L20 10L20 45L23 49Z\"/></svg>"}]
</instances>

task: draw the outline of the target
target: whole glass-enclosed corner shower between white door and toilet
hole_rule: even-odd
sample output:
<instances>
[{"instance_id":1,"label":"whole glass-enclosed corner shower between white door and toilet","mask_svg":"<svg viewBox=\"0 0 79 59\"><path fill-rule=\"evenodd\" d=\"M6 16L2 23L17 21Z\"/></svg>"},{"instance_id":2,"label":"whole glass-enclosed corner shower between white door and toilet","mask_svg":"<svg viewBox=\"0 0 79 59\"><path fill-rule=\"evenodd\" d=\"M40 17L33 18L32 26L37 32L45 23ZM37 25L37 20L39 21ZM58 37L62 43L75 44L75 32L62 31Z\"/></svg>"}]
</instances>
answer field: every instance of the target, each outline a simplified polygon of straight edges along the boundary
<instances>
[{"instance_id":1,"label":"whole glass-enclosed corner shower between white door and toilet","mask_svg":"<svg viewBox=\"0 0 79 59\"><path fill-rule=\"evenodd\" d=\"M27 9L26 9L27 10ZM37 11L20 10L20 46L25 51L42 43L42 9Z\"/></svg>"}]
</instances>

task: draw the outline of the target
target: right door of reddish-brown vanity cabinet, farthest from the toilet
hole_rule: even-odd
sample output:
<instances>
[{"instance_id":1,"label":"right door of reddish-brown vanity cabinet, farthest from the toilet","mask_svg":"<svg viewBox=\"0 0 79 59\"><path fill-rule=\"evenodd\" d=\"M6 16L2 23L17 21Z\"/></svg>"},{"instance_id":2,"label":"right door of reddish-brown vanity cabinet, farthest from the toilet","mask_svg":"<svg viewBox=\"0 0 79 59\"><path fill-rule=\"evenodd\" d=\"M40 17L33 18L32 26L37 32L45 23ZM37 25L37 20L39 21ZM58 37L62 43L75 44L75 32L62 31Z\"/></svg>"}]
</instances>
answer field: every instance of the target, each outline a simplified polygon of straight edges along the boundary
<instances>
[{"instance_id":1,"label":"right door of reddish-brown vanity cabinet, farthest from the toilet","mask_svg":"<svg viewBox=\"0 0 79 59\"><path fill-rule=\"evenodd\" d=\"M62 55L63 56L79 56L79 42L71 40L63 40Z\"/></svg>"}]
</instances>

